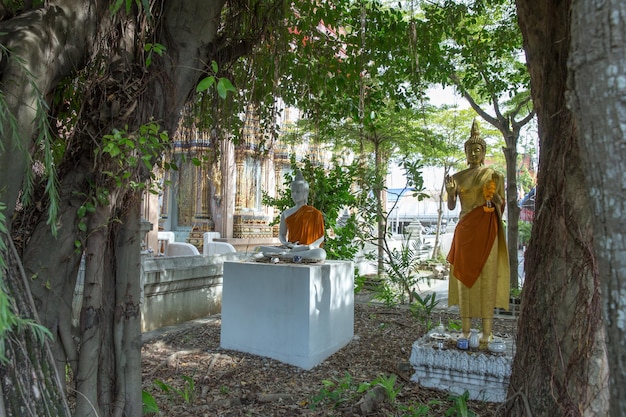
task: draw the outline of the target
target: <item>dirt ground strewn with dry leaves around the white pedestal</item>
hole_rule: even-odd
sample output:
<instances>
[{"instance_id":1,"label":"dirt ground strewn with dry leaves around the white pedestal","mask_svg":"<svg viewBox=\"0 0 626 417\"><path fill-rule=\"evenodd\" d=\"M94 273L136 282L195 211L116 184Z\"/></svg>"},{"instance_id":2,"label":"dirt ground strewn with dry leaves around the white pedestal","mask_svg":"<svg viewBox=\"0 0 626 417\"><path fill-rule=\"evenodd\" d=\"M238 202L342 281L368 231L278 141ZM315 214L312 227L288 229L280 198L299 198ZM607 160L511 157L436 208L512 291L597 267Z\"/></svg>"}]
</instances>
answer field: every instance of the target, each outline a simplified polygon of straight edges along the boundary
<instances>
[{"instance_id":1,"label":"dirt ground strewn with dry leaves around the white pedestal","mask_svg":"<svg viewBox=\"0 0 626 417\"><path fill-rule=\"evenodd\" d=\"M451 411L457 403L447 392L410 380L411 346L425 334L423 323L403 307L357 303L354 314L353 340L309 371L221 349L219 316L147 336L142 349L143 387L160 410L148 415L457 415ZM437 310L433 319L445 324L458 316ZM514 334L516 321L496 318L494 331ZM393 387L374 388L374 382ZM390 399L387 391L397 395ZM477 416L495 415L499 406L467 404Z\"/></svg>"}]
</instances>

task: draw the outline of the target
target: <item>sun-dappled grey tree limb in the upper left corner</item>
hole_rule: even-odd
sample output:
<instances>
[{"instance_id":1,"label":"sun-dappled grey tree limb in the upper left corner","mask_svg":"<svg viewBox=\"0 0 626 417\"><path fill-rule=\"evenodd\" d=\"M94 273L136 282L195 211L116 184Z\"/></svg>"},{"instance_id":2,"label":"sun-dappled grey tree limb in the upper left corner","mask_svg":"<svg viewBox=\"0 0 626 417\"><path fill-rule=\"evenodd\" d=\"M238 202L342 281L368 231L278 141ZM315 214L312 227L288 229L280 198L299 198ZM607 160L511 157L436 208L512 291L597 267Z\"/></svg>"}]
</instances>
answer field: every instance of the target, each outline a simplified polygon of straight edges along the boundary
<instances>
[{"instance_id":1,"label":"sun-dappled grey tree limb in the upper left corner","mask_svg":"<svg viewBox=\"0 0 626 417\"><path fill-rule=\"evenodd\" d=\"M12 217L22 179L30 169L28 150L43 124L49 95L59 80L84 66L96 22L107 10L105 1L65 0L0 23L0 44L10 51L0 67L6 99L2 111L16 122L13 130L2 118L6 136L4 151L0 149L0 201L7 204L7 218Z\"/></svg>"}]
</instances>

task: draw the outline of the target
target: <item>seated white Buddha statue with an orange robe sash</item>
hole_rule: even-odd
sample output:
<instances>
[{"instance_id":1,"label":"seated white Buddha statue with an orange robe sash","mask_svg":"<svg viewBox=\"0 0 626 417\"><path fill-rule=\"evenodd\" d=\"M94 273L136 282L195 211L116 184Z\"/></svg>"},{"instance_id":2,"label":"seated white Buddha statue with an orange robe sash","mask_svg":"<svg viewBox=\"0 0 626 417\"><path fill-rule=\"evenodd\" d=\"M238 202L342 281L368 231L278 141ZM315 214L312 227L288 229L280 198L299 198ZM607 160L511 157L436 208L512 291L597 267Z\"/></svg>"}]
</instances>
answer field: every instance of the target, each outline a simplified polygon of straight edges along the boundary
<instances>
[{"instance_id":1,"label":"seated white Buddha statue with an orange robe sash","mask_svg":"<svg viewBox=\"0 0 626 417\"><path fill-rule=\"evenodd\" d=\"M297 262L322 262L326 251L324 242L324 215L307 204L309 183L301 171L291 183L291 198L295 205L280 215L278 238L281 246L260 246L257 252L266 257Z\"/></svg>"}]
</instances>

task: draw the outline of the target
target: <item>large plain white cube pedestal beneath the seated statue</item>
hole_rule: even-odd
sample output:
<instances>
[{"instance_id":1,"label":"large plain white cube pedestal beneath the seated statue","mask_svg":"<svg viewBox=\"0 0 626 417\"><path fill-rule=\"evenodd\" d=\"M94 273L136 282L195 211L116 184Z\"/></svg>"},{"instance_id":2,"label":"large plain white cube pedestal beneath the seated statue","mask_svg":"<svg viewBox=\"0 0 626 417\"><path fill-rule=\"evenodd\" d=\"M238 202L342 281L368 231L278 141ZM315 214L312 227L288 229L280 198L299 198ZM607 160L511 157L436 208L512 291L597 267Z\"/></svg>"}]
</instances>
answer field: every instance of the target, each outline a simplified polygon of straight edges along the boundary
<instances>
[{"instance_id":1,"label":"large plain white cube pedestal beneath the seated statue","mask_svg":"<svg viewBox=\"0 0 626 417\"><path fill-rule=\"evenodd\" d=\"M224 262L220 346L311 369L354 336L354 267Z\"/></svg>"}]
</instances>

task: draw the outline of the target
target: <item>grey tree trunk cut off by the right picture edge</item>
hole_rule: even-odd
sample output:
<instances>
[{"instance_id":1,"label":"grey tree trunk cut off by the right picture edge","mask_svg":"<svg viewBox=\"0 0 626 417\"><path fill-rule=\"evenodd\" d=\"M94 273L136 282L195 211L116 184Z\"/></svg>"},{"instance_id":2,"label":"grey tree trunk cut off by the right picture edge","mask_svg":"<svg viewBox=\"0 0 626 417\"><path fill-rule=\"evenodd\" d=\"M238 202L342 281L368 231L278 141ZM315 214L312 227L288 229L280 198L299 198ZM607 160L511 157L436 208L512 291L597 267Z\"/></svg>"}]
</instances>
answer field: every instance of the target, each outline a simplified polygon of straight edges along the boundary
<instances>
[{"instance_id":1,"label":"grey tree trunk cut off by the right picture edge","mask_svg":"<svg viewBox=\"0 0 626 417\"><path fill-rule=\"evenodd\" d=\"M593 242L607 335L611 415L626 415L626 4L572 1L570 103L589 173Z\"/></svg>"}]
</instances>

